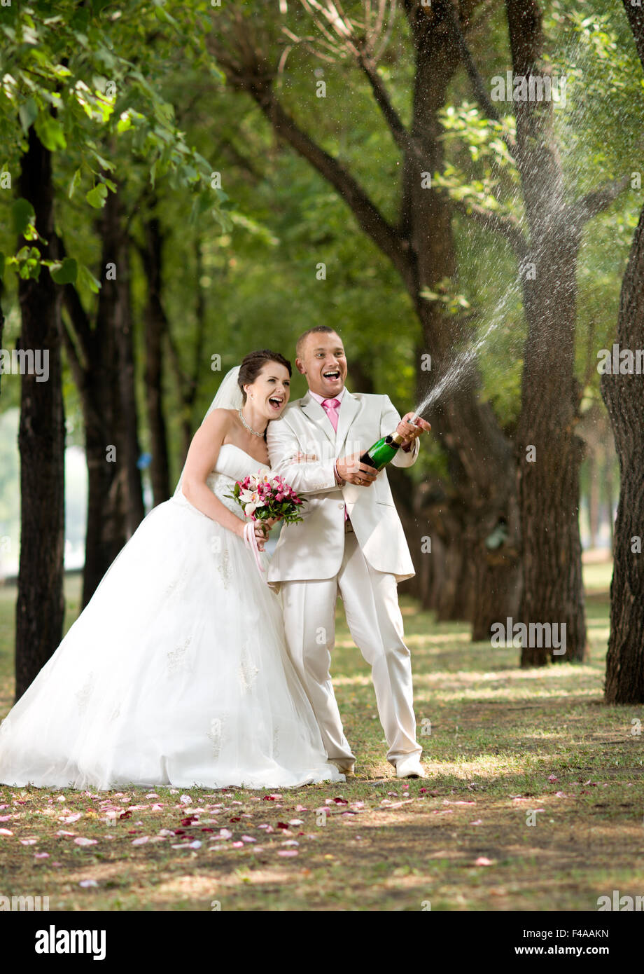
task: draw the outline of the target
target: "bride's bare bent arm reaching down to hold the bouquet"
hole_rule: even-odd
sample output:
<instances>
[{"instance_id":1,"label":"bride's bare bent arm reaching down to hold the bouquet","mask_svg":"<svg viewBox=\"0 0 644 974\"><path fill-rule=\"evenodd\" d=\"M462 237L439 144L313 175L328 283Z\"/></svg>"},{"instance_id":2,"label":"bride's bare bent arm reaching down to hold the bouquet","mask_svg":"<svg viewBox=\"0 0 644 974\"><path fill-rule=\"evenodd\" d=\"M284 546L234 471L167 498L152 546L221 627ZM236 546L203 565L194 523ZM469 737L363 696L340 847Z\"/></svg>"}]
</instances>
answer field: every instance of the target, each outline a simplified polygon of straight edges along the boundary
<instances>
[{"instance_id":1,"label":"bride's bare bent arm reaching down to hold the bouquet","mask_svg":"<svg viewBox=\"0 0 644 974\"><path fill-rule=\"evenodd\" d=\"M206 479L217 463L219 450L230 422L231 417L226 409L213 409L210 415L206 416L190 444L181 491L202 514L241 537L246 520L241 520L233 514L233 511L222 504L206 484Z\"/></svg>"}]
</instances>

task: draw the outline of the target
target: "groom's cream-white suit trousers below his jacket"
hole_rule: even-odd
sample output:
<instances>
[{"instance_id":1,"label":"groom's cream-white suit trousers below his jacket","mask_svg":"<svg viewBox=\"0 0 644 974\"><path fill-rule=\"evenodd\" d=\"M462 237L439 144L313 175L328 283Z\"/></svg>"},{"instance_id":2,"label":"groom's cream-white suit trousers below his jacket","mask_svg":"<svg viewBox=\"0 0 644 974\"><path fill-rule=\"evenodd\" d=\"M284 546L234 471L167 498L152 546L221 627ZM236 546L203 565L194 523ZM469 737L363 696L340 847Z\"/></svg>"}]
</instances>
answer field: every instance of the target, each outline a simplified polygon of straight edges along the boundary
<instances>
[{"instance_id":1,"label":"groom's cream-white suit trousers below his jacket","mask_svg":"<svg viewBox=\"0 0 644 974\"><path fill-rule=\"evenodd\" d=\"M415 740L411 654L403 641L396 579L372 568L353 533L344 536L336 578L282 582L289 656L310 700L327 756L354 761L329 671L339 592L353 641L372 667L387 760L395 767L399 758L422 753Z\"/></svg>"}]
</instances>

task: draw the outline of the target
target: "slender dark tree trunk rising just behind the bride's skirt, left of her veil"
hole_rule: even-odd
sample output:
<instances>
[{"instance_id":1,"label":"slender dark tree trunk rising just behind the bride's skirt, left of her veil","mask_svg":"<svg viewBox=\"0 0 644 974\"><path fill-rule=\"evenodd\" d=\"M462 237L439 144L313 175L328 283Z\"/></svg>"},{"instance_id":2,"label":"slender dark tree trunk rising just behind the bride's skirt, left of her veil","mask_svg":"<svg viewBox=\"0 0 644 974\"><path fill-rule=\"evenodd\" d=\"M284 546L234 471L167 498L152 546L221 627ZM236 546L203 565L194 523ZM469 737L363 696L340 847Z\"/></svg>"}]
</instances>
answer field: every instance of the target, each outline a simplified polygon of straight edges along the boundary
<instances>
[{"instance_id":1,"label":"slender dark tree trunk rising just behind the bride's skirt, left of her veil","mask_svg":"<svg viewBox=\"0 0 644 974\"><path fill-rule=\"evenodd\" d=\"M148 282L148 303L145 311L145 391L152 448L150 475L154 506L157 506L170 496L170 468L163 414L163 341L167 332L167 320L161 304L162 238L161 225L156 216L146 222L145 234L143 260Z\"/></svg>"}]
</instances>

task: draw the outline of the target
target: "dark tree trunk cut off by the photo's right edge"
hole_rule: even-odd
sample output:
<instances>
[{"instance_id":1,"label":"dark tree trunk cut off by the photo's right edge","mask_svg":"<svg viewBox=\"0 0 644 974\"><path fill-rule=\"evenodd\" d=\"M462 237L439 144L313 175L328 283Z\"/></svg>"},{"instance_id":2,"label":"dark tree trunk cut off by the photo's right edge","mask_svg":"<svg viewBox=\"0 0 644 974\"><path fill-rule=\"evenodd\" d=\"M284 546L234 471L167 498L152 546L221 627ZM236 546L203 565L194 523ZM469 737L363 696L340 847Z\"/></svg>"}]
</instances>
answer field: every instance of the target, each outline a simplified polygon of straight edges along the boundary
<instances>
[{"instance_id":1,"label":"dark tree trunk cut off by the photo's right edge","mask_svg":"<svg viewBox=\"0 0 644 974\"><path fill-rule=\"evenodd\" d=\"M644 67L644 11L625 0ZM621 349L644 349L644 208L622 283L617 340ZM644 703L644 396L642 376L601 378L601 394L620 460L620 502L615 522L611 631L606 656L606 703ZM608 460L608 458L607 458ZM612 520L612 518L611 518Z\"/></svg>"}]
</instances>

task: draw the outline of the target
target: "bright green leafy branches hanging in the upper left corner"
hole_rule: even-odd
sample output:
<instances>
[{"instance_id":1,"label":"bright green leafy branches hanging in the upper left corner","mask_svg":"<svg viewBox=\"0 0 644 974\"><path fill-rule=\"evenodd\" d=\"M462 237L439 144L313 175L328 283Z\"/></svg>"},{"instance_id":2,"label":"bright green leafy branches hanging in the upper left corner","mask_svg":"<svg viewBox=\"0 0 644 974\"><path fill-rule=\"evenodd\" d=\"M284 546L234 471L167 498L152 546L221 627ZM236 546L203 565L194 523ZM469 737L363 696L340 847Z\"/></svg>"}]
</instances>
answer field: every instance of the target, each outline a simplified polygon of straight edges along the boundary
<instances>
[{"instance_id":1,"label":"bright green leafy branches hanging in the upper left corner","mask_svg":"<svg viewBox=\"0 0 644 974\"><path fill-rule=\"evenodd\" d=\"M186 45L196 63L204 57L203 31L196 28L204 25L205 5L198 6L200 13L179 4L126 2L115 14L100 2L70 12L66 0L51 0L3 8L0 144L10 147L3 169L18 170L33 126L54 157L64 154L64 164L74 164L70 199L89 183L85 200L102 208L108 191L117 191L105 173L123 178L127 161L140 159L152 187L164 175L175 189L190 187L198 211L209 210L226 226L228 197L211 186L212 167L187 143L162 94L165 61L177 44ZM220 72L211 73L221 79ZM30 231L26 239L35 240L28 207L14 204L14 230L17 236ZM37 250L13 257L8 264L21 277L36 276L31 262ZM57 266L55 272L63 282ZM88 275L86 268L84 280L95 281Z\"/></svg>"}]
</instances>

